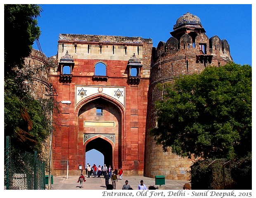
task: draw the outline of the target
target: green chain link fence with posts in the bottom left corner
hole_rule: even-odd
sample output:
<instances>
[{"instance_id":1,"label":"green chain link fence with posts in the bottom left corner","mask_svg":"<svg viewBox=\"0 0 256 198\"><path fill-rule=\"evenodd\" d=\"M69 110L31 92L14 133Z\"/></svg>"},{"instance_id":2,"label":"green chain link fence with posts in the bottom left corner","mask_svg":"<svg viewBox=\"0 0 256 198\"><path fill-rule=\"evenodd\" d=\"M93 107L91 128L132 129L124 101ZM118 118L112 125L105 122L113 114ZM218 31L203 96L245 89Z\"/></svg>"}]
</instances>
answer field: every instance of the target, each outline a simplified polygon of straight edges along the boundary
<instances>
[{"instance_id":1,"label":"green chain link fence with posts in the bottom left corner","mask_svg":"<svg viewBox=\"0 0 256 198\"><path fill-rule=\"evenodd\" d=\"M21 153L9 146L5 148L5 189L45 190L45 163L35 153Z\"/></svg>"}]
</instances>

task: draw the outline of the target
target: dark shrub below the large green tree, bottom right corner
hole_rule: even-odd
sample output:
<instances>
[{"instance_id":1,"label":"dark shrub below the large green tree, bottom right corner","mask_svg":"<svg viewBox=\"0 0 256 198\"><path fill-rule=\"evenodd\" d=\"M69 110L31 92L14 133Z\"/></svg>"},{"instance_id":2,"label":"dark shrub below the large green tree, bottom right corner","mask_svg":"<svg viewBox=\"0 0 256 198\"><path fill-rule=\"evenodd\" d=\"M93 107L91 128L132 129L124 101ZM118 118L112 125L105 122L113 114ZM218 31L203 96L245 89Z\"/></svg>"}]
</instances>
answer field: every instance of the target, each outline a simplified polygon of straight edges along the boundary
<instances>
[{"instance_id":1,"label":"dark shrub below the large green tree, bottom right corner","mask_svg":"<svg viewBox=\"0 0 256 198\"><path fill-rule=\"evenodd\" d=\"M251 154L234 160L197 160L190 181L193 190L251 189Z\"/></svg>"}]
</instances>

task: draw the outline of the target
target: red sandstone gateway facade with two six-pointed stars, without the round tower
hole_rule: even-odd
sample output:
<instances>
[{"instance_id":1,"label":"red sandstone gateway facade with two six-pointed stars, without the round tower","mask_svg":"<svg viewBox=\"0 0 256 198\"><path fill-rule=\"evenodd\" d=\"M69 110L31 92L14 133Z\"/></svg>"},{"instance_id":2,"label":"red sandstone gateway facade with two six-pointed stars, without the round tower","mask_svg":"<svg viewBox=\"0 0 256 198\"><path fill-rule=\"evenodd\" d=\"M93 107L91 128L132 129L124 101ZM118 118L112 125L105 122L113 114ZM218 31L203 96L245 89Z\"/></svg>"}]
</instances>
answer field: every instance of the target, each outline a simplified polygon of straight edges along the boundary
<instances>
[{"instance_id":1,"label":"red sandstone gateway facade with two six-pointed stars, without the round tower","mask_svg":"<svg viewBox=\"0 0 256 198\"><path fill-rule=\"evenodd\" d=\"M59 64L51 79L55 99L71 104L60 103L53 174L64 174L67 160L69 173L78 174L91 149L104 155L107 166L143 174L151 50L150 39L59 35Z\"/></svg>"}]
</instances>

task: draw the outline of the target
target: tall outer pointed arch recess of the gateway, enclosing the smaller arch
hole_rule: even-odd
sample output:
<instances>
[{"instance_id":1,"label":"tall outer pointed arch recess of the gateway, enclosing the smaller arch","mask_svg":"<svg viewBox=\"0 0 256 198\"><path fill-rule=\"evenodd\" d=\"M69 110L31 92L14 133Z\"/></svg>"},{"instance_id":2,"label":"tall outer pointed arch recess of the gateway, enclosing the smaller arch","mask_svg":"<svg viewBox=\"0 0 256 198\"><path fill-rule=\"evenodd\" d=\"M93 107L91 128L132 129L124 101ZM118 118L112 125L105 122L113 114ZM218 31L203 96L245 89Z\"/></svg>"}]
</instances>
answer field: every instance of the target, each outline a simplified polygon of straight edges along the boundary
<instances>
[{"instance_id":1,"label":"tall outer pointed arch recess of the gateway, enclosing the smaller arch","mask_svg":"<svg viewBox=\"0 0 256 198\"><path fill-rule=\"evenodd\" d=\"M81 102L78 115L78 161L85 165L85 153L92 149L104 156L104 164L122 167L123 108L106 96L97 95Z\"/></svg>"}]
</instances>

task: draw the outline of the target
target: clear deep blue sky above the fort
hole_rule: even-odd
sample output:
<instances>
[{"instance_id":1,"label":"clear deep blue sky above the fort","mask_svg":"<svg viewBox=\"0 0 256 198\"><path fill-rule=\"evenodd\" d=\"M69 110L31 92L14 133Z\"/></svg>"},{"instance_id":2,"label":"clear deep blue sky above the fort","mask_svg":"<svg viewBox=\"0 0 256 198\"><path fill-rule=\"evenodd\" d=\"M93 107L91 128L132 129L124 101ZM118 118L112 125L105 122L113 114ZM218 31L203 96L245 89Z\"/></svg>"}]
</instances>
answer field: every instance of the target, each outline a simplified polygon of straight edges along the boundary
<instances>
[{"instance_id":1,"label":"clear deep blue sky above the fort","mask_svg":"<svg viewBox=\"0 0 256 198\"><path fill-rule=\"evenodd\" d=\"M246 1L248 3L248 1ZM252 1L251 1L252 2ZM252 62L252 5L141 4L40 5L39 41L47 56L57 54L59 33L151 38L153 46L171 37L176 20L190 12L201 19L206 35L226 39L237 64ZM253 5L255 6L255 5ZM33 45L38 49L36 44Z\"/></svg>"}]
</instances>

